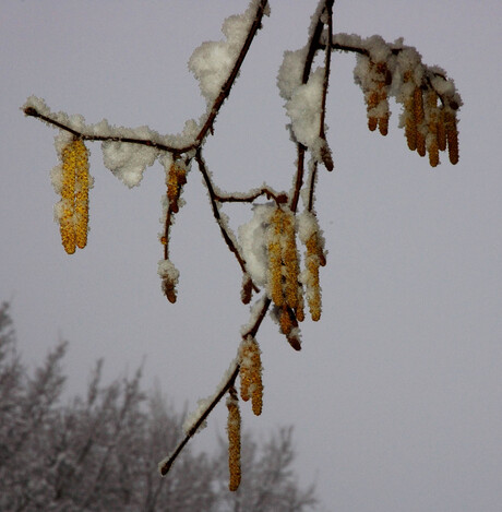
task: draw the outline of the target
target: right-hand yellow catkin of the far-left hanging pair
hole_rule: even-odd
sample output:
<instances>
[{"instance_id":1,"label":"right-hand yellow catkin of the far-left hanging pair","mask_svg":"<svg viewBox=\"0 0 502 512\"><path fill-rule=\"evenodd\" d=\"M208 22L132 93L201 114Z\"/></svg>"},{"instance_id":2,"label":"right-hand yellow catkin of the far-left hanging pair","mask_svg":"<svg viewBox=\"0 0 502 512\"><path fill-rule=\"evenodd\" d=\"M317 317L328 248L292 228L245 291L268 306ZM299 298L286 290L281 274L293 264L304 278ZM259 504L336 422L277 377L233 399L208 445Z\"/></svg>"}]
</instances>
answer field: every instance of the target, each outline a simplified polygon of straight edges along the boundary
<instances>
[{"instance_id":1,"label":"right-hand yellow catkin of the far-left hanging pair","mask_svg":"<svg viewBox=\"0 0 502 512\"><path fill-rule=\"evenodd\" d=\"M75 241L80 249L87 245L88 231L88 151L82 141L75 141Z\"/></svg>"}]
</instances>

